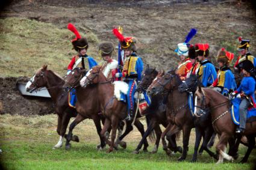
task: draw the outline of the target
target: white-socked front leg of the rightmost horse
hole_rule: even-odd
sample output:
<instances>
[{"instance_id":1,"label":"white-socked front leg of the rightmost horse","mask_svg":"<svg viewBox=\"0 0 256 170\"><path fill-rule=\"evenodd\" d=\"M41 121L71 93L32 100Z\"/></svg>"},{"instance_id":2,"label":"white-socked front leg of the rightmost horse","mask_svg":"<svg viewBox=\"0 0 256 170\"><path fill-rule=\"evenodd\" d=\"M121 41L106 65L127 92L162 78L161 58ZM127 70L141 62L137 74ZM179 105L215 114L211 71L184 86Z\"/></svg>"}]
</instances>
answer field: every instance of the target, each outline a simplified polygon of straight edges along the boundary
<instances>
[{"instance_id":1,"label":"white-socked front leg of the rightmost horse","mask_svg":"<svg viewBox=\"0 0 256 170\"><path fill-rule=\"evenodd\" d=\"M226 144L228 143L228 138L229 136L225 133L222 133L222 135L219 138L219 142L216 145L217 153L219 153L219 160L217 163L222 163L223 159L233 160L232 156L229 156L228 154L225 153L225 147Z\"/></svg>"}]
</instances>

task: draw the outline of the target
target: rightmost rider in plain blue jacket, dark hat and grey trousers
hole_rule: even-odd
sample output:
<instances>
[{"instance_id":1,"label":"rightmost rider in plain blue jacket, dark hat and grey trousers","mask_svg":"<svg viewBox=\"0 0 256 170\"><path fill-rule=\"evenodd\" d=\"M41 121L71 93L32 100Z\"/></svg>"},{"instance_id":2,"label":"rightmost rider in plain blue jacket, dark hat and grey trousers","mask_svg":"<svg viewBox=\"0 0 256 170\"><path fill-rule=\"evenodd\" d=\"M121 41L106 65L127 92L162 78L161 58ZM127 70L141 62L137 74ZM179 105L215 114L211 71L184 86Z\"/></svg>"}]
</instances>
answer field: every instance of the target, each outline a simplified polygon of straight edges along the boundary
<instances>
[{"instance_id":1,"label":"rightmost rider in plain blue jacket, dark hat and grey trousers","mask_svg":"<svg viewBox=\"0 0 256 170\"><path fill-rule=\"evenodd\" d=\"M254 65L251 61L245 60L240 62L239 68L243 73L243 79L240 87L234 91L233 96L241 98L241 103L239 105L239 115L240 115L240 126L237 127L236 133L243 133L246 126L246 115L248 107L251 105L256 108L255 104L255 70Z\"/></svg>"}]
</instances>

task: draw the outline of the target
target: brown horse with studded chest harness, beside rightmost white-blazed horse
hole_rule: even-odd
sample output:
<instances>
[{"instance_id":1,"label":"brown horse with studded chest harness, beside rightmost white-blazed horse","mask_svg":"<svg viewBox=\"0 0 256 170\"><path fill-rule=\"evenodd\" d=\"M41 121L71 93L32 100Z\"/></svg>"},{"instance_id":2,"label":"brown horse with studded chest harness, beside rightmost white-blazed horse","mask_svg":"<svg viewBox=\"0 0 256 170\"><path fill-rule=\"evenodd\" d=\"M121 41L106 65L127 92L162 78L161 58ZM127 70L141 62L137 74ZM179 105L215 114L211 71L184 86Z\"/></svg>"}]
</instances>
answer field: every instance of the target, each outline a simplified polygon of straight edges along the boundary
<instances>
[{"instance_id":1,"label":"brown horse with studded chest harness, beside rightmost white-blazed horse","mask_svg":"<svg viewBox=\"0 0 256 170\"><path fill-rule=\"evenodd\" d=\"M163 142L163 149L169 155L170 150L167 148L165 136L168 133L167 138L171 135L183 130L183 154L178 159L179 161L185 160L187 157L187 150L189 145L189 136L191 129L194 126L193 117L190 114L188 103L187 103L187 93L180 93L178 91L178 86L181 84L180 77L175 74L175 71L168 71L161 77L160 80L154 82L154 85L148 88L149 94L158 94L166 91L168 94L166 103L166 115L167 121L169 122L166 130L161 135ZM178 99L178 100L177 100ZM175 124L176 126L172 126Z\"/></svg>"}]
</instances>

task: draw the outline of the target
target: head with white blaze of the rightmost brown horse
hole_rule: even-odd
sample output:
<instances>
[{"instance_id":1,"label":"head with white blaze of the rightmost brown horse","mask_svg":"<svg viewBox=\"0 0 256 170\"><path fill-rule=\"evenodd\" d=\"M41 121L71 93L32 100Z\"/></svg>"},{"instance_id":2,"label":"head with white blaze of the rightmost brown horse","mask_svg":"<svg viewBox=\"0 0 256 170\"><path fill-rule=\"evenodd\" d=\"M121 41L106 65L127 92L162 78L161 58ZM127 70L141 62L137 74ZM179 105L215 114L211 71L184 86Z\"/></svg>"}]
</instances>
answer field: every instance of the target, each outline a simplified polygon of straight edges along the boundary
<instances>
[{"instance_id":1,"label":"head with white blaze of the rightmost brown horse","mask_svg":"<svg viewBox=\"0 0 256 170\"><path fill-rule=\"evenodd\" d=\"M210 98L205 96L205 89L198 87L195 92L195 111L194 114L196 117L201 117L202 115L207 114L208 106L210 103Z\"/></svg>"}]
</instances>

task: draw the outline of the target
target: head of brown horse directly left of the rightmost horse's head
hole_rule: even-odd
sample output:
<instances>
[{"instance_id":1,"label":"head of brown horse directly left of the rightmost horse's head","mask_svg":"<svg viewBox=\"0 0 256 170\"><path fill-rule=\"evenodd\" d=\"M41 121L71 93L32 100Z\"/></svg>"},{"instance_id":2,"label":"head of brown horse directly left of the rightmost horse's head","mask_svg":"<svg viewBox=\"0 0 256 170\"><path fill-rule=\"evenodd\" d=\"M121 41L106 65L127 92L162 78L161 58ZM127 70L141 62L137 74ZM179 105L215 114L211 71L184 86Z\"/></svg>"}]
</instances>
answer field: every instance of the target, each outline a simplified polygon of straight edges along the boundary
<instances>
[{"instance_id":1,"label":"head of brown horse directly left of the rightmost horse's head","mask_svg":"<svg viewBox=\"0 0 256 170\"><path fill-rule=\"evenodd\" d=\"M176 78L173 79L173 77ZM164 93L164 91L171 91L180 83L180 77L175 74L175 70L170 70L152 85L149 89L149 94L159 94Z\"/></svg>"}]
</instances>

